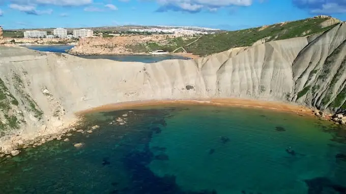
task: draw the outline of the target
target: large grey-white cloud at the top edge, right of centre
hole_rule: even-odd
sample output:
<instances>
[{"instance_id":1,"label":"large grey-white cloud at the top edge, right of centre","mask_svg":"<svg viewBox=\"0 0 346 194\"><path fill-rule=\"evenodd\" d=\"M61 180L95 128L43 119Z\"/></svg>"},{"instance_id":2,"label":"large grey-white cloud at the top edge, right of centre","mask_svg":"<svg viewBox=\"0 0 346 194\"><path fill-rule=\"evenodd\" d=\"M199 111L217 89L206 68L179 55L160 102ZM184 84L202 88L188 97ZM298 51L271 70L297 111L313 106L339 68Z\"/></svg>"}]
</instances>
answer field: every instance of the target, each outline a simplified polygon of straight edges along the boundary
<instances>
[{"instance_id":1,"label":"large grey-white cloud at the top edge, right of centre","mask_svg":"<svg viewBox=\"0 0 346 194\"><path fill-rule=\"evenodd\" d=\"M173 10L193 13L201 9L216 11L222 7L251 6L253 0L157 0L157 2L161 6L158 10L160 12Z\"/></svg>"}]
</instances>

